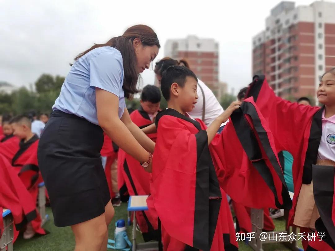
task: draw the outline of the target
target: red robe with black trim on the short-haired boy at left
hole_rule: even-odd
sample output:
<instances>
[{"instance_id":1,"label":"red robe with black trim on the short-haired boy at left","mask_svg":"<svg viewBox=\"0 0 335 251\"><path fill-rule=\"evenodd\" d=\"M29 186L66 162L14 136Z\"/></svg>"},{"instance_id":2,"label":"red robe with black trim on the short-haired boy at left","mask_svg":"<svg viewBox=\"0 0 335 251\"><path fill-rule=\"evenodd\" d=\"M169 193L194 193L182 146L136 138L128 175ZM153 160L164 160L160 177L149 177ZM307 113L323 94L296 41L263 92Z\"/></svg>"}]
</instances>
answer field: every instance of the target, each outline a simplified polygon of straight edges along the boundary
<instances>
[{"instance_id":1,"label":"red robe with black trim on the short-haired boy at left","mask_svg":"<svg viewBox=\"0 0 335 251\"><path fill-rule=\"evenodd\" d=\"M20 177L26 189L29 191L33 202L37 202L38 197L38 184L43 182L42 176L37 161L37 147L39 138L34 135L27 142L23 140L19 143L19 150L16 152L12 159L12 166L14 172ZM31 221L32 227L36 233L45 234L44 229L41 227L41 217Z\"/></svg>"}]
</instances>

